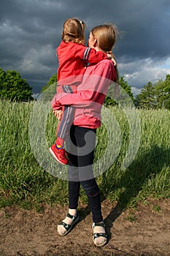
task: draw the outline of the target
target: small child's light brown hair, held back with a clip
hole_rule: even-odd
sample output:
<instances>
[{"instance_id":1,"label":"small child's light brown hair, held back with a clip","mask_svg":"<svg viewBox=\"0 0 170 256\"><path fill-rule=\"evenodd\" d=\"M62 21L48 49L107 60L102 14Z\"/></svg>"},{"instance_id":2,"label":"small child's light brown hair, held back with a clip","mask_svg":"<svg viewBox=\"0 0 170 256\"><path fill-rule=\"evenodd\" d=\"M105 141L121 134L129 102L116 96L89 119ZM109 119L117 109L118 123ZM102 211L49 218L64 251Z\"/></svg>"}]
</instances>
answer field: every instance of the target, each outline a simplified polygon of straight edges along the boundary
<instances>
[{"instance_id":1,"label":"small child's light brown hair, held back with a clip","mask_svg":"<svg viewBox=\"0 0 170 256\"><path fill-rule=\"evenodd\" d=\"M69 18L65 20L61 38L64 42L85 44L85 23L78 18Z\"/></svg>"}]
</instances>

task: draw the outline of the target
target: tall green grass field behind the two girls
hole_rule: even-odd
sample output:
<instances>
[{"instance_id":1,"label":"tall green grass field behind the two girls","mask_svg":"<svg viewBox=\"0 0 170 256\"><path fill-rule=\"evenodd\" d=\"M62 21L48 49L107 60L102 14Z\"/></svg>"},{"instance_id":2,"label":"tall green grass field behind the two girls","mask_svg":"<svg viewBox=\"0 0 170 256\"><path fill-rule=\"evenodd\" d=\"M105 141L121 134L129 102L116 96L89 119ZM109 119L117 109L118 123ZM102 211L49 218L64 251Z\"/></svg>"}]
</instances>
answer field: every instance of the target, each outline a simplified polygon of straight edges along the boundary
<instances>
[{"instance_id":1,"label":"tall green grass field behind the two girls","mask_svg":"<svg viewBox=\"0 0 170 256\"><path fill-rule=\"evenodd\" d=\"M15 203L39 210L41 203L63 204L68 200L67 181L47 173L31 150L28 126L34 104L0 100L0 207ZM137 110L141 120L140 146L133 162L125 169L121 166L130 139L128 120L120 108L109 107L109 111L120 127L121 143L109 170L97 177L101 199L116 200L126 208L150 197L169 198L169 110ZM53 113L49 113L46 125L49 146L55 139L55 127ZM104 154L107 136L108 130L102 124L97 130L96 159ZM81 191L80 200L85 198Z\"/></svg>"}]
</instances>

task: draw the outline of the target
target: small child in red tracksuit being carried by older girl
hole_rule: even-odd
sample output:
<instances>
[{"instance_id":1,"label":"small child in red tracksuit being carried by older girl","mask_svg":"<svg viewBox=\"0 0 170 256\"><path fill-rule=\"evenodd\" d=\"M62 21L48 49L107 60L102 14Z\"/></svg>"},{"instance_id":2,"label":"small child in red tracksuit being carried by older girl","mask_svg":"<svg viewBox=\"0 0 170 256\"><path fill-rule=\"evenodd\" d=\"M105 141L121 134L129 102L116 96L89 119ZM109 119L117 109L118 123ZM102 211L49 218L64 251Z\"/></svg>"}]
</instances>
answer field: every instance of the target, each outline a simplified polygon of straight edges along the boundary
<instances>
[{"instance_id":1,"label":"small child in red tracksuit being carried by older girl","mask_svg":"<svg viewBox=\"0 0 170 256\"><path fill-rule=\"evenodd\" d=\"M57 94L61 92L76 93L82 81L88 63L98 63L103 59L112 59L110 54L85 47L85 23L77 18L69 18L63 23L61 44L56 49L58 56ZM52 101L53 110L63 110L57 127L57 139L50 146L54 159L63 165L68 164L68 157L63 148L66 136L74 120L74 107L58 106Z\"/></svg>"}]
</instances>

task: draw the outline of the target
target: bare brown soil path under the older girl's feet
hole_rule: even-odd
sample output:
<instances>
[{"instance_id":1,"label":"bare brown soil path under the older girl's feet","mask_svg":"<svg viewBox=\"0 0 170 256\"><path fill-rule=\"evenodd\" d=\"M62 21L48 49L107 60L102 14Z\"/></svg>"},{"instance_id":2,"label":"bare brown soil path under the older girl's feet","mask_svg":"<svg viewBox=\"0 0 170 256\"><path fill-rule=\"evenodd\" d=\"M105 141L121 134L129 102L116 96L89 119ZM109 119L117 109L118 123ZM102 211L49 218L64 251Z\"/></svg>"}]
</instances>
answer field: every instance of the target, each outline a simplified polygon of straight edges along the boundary
<instances>
[{"instance_id":1,"label":"bare brown soil path under the older girl's feet","mask_svg":"<svg viewBox=\"0 0 170 256\"><path fill-rule=\"evenodd\" d=\"M116 203L102 202L109 241L98 248L92 241L88 206L80 206L80 222L67 236L59 236L64 206L43 206L41 214L15 206L0 211L0 256L169 256L170 200L150 200L135 211L120 211ZM135 214L135 215L134 215Z\"/></svg>"}]
</instances>

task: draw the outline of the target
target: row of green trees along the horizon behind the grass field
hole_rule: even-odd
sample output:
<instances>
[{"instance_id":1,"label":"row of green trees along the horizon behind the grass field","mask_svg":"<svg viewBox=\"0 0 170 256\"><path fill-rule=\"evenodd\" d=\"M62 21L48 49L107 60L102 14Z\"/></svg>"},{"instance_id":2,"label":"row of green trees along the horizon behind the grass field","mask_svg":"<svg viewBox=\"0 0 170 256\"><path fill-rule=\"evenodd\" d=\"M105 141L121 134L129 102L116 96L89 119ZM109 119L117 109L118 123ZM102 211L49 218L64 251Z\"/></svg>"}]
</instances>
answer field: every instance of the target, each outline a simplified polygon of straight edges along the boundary
<instances>
[{"instance_id":1,"label":"row of green trees along the horizon behind the grass field","mask_svg":"<svg viewBox=\"0 0 170 256\"><path fill-rule=\"evenodd\" d=\"M57 81L56 74L53 75L47 82L47 85L42 87L41 93L49 86ZM165 80L158 80L156 83L148 82L143 86L141 92L134 97L131 91L131 86L123 77L119 78L119 85L125 90L136 108L170 109L170 75L166 75ZM19 72L15 70L7 70L5 72L0 68L0 99L10 99L17 102L28 102L34 100L32 88L26 82L26 79L21 78ZM106 97L105 105L115 105L115 101Z\"/></svg>"}]
</instances>

